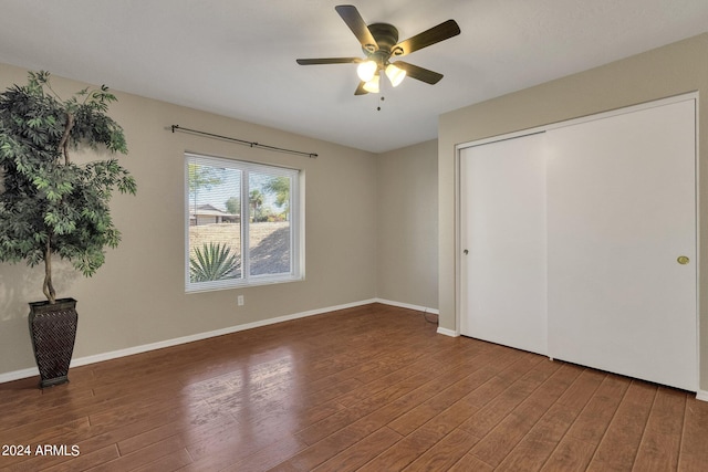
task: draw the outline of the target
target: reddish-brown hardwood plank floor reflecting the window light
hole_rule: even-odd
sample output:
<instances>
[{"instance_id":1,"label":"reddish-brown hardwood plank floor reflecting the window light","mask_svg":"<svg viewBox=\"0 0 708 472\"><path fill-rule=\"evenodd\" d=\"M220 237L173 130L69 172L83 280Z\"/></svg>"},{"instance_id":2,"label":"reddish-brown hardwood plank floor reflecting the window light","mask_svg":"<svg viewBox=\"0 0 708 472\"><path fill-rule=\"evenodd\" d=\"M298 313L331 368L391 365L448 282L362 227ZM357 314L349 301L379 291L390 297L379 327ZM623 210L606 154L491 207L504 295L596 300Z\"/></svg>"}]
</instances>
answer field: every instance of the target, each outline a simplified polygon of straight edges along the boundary
<instances>
[{"instance_id":1,"label":"reddish-brown hardwood plank floor reflecting the window light","mask_svg":"<svg viewBox=\"0 0 708 472\"><path fill-rule=\"evenodd\" d=\"M708 470L694 394L438 335L379 304L70 379L0 385L1 470Z\"/></svg>"}]
</instances>

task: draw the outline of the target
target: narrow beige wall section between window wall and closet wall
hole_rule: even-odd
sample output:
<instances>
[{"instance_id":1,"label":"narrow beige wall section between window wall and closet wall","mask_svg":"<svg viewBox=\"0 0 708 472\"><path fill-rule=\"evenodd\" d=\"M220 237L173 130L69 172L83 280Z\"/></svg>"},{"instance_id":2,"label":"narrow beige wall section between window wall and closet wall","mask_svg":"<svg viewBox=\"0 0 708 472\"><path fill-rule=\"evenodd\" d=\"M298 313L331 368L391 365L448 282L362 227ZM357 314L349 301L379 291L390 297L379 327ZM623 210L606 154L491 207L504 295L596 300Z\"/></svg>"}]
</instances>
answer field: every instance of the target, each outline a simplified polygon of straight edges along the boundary
<instances>
[{"instance_id":1,"label":"narrow beige wall section between window wall and closet wall","mask_svg":"<svg viewBox=\"0 0 708 472\"><path fill-rule=\"evenodd\" d=\"M438 306L437 140L378 157L378 297Z\"/></svg>"}]
</instances>

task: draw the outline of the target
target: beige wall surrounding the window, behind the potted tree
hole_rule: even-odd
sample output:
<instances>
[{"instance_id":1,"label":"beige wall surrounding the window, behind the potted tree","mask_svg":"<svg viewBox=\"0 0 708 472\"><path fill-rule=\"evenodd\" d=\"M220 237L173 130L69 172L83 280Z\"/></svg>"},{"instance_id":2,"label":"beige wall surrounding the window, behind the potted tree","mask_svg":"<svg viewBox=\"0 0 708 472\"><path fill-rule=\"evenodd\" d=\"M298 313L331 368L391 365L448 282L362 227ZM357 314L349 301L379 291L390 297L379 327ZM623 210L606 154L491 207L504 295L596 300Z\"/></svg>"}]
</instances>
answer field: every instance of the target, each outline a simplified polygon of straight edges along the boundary
<instances>
[{"instance_id":1,"label":"beige wall surrounding the window, behind the potted tree","mask_svg":"<svg viewBox=\"0 0 708 472\"><path fill-rule=\"evenodd\" d=\"M0 64L1 90L25 81L27 71ZM84 86L60 77L53 84L62 95ZM114 198L113 216L123 242L108 250L105 265L94 277L83 279L65 265L55 271L59 295L79 300L74 358L376 297L376 155L116 94L111 116L125 129L129 155L122 162L137 179L138 193ZM320 157L173 134L173 124ZM185 150L304 170L305 281L185 294ZM34 366L27 303L43 300L41 284L41 268L0 265L0 374ZM246 296L242 307L237 306L238 295Z\"/></svg>"}]
</instances>

